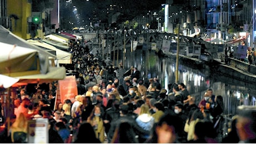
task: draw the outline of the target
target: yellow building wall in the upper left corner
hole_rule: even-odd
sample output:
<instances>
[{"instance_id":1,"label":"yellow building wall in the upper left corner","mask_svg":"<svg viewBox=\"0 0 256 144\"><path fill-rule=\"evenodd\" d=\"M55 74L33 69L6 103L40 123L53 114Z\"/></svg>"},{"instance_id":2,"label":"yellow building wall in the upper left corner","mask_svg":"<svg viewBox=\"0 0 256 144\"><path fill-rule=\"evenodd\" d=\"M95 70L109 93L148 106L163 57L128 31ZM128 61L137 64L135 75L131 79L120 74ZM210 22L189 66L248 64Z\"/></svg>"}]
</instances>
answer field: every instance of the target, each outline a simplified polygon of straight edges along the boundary
<instances>
[{"instance_id":1,"label":"yellow building wall in the upper left corner","mask_svg":"<svg viewBox=\"0 0 256 144\"><path fill-rule=\"evenodd\" d=\"M10 29L13 34L18 35L23 39L31 38L28 34L27 18L31 17L31 3L27 0L7 0L7 16L15 14L18 19L11 18L12 28Z\"/></svg>"}]
</instances>

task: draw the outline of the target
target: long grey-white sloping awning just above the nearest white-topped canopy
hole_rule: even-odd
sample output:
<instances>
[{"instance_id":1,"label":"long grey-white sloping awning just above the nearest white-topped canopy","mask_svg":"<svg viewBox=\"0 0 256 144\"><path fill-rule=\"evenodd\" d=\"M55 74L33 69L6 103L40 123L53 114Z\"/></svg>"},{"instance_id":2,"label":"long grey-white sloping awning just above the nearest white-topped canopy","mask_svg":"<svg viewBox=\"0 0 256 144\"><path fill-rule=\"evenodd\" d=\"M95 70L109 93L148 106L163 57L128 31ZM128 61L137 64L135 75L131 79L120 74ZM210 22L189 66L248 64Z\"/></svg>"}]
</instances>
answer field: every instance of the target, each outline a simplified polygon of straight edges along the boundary
<instances>
[{"instance_id":1,"label":"long grey-white sloping awning just above the nearest white-topped canopy","mask_svg":"<svg viewBox=\"0 0 256 144\"><path fill-rule=\"evenodd\" d=\"M37 47L36 45L30 44L26 40L19 38L17 35L11 33L8 29L4 28L2 25L0 25L0 42L12 45L17 44L19 47L35 49L38 50L40 54L56 58L54 54L46 52L45 50Z\"/></svg>"}]
</instances>

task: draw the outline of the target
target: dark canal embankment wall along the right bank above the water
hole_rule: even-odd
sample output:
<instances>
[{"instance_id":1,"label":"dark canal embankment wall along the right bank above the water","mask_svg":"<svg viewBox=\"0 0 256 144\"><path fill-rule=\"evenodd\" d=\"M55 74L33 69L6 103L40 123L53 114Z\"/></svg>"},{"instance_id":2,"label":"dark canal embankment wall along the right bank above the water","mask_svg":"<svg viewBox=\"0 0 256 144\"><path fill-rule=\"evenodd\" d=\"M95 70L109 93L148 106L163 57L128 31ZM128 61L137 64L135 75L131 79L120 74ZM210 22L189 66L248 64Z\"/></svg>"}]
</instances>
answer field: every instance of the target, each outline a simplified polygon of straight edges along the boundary
<instances>
[{"instance_id":1,"label":"dark canal embankment wall along the right bank above the water","mask_svg":"<svg viewBox=\"0 0 256 144\"><path fill-rule=\"evenodd\" d=\"M176 59L175 53L165 53L166 56ZM210 73L228 76L229 78L244 81L254 84L256 81L256 66L245 63L243 61L230 58L230 63L227 65L221 59L213 59L205 61L191 56L179 55L179 60L182 63L188 64L199 70L207 70Z\"/></svg>"}]
</instances>

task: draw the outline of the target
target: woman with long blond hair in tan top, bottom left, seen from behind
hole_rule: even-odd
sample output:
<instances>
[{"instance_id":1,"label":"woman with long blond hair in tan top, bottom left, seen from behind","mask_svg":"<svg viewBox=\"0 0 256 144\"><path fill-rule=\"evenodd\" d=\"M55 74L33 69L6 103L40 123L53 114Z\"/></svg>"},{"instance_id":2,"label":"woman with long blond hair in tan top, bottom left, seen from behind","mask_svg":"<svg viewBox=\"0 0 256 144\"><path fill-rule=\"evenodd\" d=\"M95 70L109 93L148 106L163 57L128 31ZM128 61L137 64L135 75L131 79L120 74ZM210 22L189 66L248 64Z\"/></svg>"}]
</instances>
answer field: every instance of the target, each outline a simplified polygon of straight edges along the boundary
<instances>
[{"instance_id":1,"label":"woman with long blond hair in tan top, bottom left, seen from behind","mask_svg":"<svg viewBox=\"0 0 256 144\"><path fill-rule=\"evenodd\" d=\"M13 143L27 143L27 126L28 120L26 116L21 113L11 126L11 138Z\"/></svg>"}]
</instances>

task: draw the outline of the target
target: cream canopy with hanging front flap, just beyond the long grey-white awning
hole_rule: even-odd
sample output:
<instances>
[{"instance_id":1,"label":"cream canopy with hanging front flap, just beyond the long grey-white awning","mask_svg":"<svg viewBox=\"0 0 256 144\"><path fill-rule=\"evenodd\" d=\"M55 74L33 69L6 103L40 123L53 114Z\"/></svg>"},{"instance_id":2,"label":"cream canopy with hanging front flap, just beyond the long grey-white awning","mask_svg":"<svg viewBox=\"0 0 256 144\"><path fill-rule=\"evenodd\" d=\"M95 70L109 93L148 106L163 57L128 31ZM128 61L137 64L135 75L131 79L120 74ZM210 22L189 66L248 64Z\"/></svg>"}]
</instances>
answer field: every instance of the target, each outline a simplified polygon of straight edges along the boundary
<instances>
[{"instance_id":1,"label":"cream canopy with hanging front flap, just beyond the long grey-white awning","mask_svg":"<svg viewBox=\"0 0 256 144\"><path fill-rule=\"evenodd\" d=\"M31 44L35 44L39 47L54 50L56 52L58 63L60 63L60 64L72 64L72 54L71 53L57 49L56 47L53 47L52 45L47 44L47 43L43 42L42 40L28 39L27 42L29 42Z\"/></svg>"}]
</instances>

